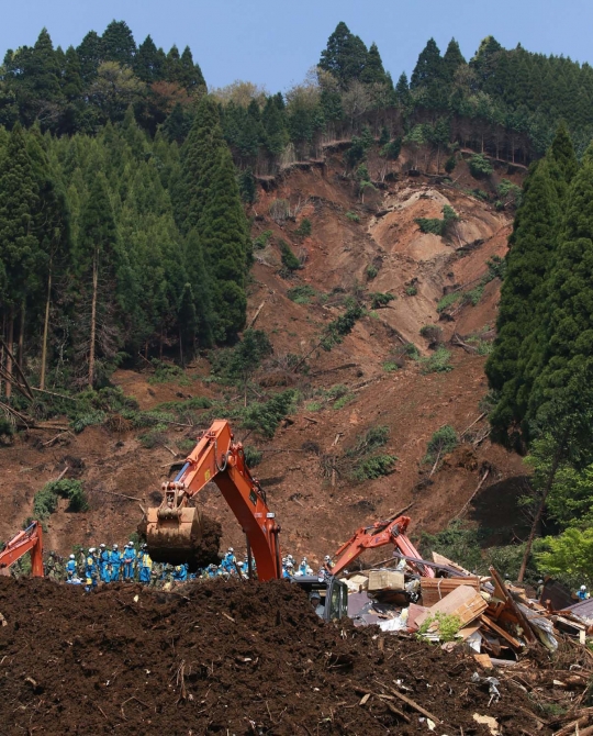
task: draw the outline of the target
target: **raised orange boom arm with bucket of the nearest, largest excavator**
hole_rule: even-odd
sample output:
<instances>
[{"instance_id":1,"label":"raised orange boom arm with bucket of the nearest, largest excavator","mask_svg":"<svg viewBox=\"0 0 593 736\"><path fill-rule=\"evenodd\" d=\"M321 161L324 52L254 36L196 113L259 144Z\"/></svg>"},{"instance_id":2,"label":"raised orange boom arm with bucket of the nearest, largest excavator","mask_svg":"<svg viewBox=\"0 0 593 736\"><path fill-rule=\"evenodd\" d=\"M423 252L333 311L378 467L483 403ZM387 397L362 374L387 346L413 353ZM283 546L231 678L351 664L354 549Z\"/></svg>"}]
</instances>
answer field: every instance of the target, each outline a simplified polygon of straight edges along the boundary
<instances>
[{"instance_id":1,"label":"raised orange boom arm with bucket of the nearest, largest excavator","mask_svg":"<svg viewBox=\"0 0 593 736\"><path fill-rule=\"evenodd\" d=\"M247 535L260 580L282 576L278 534L280 527L266 503L266 494L251 477L240 443L233 442L228 422L216 420L198 441L177 478L164 483L165 498L147 513L149 549L183 554L199 542L195 509L188 501L206 483L219 487L231 511Z\"/></svg>"}]
</instances>

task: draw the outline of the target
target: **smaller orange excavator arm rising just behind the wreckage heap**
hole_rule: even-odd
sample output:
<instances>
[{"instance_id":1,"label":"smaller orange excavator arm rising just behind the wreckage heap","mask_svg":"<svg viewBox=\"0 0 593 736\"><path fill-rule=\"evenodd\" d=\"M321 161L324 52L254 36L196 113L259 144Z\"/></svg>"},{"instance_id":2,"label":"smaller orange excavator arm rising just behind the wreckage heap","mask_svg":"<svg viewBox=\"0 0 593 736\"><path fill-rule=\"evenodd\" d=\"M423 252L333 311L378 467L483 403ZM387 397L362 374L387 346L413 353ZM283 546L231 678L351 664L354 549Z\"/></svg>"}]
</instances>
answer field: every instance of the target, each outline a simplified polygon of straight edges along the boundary
<instances>
[{"instance_id":1,"label":"smaller orange excavator arm rising just behind the wreckage heap","mask_svg":"<svg viewBox=\"0 0 593 736\"><path fill-rule=\"evenodd\" d=\"M361 526L336 551L336 562L334 567L327 568L327 570L337 576L366 549L394 545L404 556L418 560L409 561L410 567L416 570L418 575L424 578L434 578L435 571L419 561L419 553L405 535L409 524L409 516L398 516L384 522L376 522L371 526Z\"/></svg>"}]
</instances>

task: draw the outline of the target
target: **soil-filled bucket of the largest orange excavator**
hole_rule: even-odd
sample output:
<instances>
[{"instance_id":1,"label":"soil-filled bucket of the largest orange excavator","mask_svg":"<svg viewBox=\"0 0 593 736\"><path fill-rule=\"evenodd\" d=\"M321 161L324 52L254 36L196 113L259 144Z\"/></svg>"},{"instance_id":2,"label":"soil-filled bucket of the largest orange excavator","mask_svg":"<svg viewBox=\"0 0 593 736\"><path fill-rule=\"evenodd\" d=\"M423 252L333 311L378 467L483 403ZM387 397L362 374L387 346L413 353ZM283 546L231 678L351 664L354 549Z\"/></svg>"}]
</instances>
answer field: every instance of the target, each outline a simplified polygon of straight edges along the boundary
<instances>
[{"instance_id":1,"label":"soil-filled bucket of the largest orange excavator","mask_svg":"<svg viewBox=\"0 0 593 736\"><path fill-rule=\"evenodd\" d=\"M187 562L191 572L220 562L221 526L195 508L182 506L170 512L163 506L148 509L138 533L145 537L155 562Z\"/></svg>"}]
</instances>

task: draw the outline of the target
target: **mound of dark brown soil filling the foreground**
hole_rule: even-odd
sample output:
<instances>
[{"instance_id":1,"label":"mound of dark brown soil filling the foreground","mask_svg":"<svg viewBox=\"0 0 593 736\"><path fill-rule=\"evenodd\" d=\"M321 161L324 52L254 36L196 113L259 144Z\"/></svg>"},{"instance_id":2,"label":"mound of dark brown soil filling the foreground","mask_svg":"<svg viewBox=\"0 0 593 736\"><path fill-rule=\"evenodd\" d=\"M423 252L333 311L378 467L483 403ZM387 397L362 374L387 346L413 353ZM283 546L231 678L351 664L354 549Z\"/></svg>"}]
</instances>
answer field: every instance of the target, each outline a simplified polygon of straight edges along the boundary
<instances>
[{"instance_id":1,"label":"mound of dark brown soil filling the foreground","mask_svg":"<svg viewBox=\"0 0 593 736\"><path fill-rule=\"evenodd\" d=\"M433 714L438 735L490 734L474 713L503 734L538 726L511 681L489 707L488 673L473 658L323 624L282 581L86 594L0 578L0 612L2 735L430 733L394 691ZM539 734L552 731L539 720Z\"/></svg>"}]
</instances>

